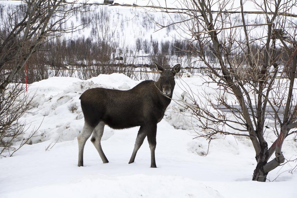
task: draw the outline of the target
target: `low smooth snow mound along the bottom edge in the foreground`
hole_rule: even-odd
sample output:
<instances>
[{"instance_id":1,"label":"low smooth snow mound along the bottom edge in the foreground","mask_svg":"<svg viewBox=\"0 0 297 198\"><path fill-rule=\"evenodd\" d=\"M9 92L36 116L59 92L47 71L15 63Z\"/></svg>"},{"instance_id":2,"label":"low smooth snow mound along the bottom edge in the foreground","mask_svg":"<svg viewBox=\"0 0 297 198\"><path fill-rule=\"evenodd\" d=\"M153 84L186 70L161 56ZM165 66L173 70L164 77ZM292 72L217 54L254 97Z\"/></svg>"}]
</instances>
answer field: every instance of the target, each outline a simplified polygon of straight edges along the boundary
<instances>
[{"instance_id":1,"label":"low smooth snow mound along the bottom edge in the foreground","mask_svg":"<svg viewBox=\"0 0 297 198\"><path fill-rule=\"evenodd\" d=\"M184 185L187 183L187 185ZM116 188L115 188L116 186ZM129 190L128 190L129 189ZM64 185L37 186L12 192L11 197L203 197L222 198L218 191L195 180L176 176L132 175L82 179ZM47 193L44 193L47 192ZM5 196L4 196L5 197Z\"/></svg>"}]
</instances>

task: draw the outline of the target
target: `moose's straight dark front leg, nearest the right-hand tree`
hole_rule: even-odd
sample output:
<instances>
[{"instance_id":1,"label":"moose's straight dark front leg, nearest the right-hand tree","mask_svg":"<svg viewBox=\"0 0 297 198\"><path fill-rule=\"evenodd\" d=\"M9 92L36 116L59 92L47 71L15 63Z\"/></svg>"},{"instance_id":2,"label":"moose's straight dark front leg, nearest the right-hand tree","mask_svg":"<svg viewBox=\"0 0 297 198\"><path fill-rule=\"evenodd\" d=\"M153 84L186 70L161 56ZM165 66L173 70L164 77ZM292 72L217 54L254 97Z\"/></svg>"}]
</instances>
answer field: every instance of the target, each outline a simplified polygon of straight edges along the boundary
<instances>
[{"instance_id":1,"label":"moose's straight dark front leg, nearest the right-hand tree","mask_svg":"<svg viewBox=\"0 0 297 198\"><path fill-rule=\"evenodd\" d=\"M150 124L147 126L147 137L149 142L149 148L151 149L151 168L157 168L155 159L156 150L156 135L157 135L157 124Z\"/></svg>"}]
</instances>

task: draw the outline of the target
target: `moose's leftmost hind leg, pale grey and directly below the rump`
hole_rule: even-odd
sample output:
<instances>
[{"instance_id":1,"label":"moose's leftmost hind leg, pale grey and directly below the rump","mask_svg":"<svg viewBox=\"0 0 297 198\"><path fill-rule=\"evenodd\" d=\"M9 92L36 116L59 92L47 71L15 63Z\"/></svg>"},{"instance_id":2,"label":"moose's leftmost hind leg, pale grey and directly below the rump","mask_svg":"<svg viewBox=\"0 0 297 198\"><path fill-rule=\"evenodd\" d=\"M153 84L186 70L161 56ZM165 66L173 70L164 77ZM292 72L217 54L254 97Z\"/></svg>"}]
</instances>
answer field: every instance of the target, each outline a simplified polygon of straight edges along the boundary
<instances>
[{"instance_id":1,"label":"moose's leftmost hind leg, pale grey and directly below the rump","mask_svg":"<svg viewBox=\"0 0 297 198\"><path fill-rule=\"evenodd\" d=\"M77 137L78 141L78 166L83 166L83 149L85 147L86 141L92 134L94 127L90 126L88 123L85 122L83 125L83 130Z\"/></svg>"}]
</instances>

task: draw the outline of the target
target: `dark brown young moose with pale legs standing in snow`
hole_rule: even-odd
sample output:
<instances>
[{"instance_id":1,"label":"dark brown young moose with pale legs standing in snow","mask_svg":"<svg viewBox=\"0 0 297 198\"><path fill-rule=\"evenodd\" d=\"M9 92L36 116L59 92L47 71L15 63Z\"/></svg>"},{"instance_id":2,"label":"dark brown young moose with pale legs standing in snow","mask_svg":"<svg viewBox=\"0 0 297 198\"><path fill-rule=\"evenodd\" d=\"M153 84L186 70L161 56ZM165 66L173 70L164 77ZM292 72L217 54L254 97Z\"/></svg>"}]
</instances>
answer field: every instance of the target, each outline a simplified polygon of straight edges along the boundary
<instances>
[{"instance_id":1,"label":"dark brown young moose with pale legs standing in snow","mask_svg":"<svg viewBox=\"0 0 297 198\"><path fill-rule=\"evenodd\" d=\"M162 120L171 102L175 85L174 76L180 71L181 65L175 65L172 70L164 70L158 64L155 66L161 74L157 82L146 80L127 91L92 88L80 96L85 124L77 138L78 166L83 166L83 148L92 132L91 142L103 163L108 163L101 147L101 137L107 124L113 129L140 126L129 164L134 162L136 153L147 136L151 149L151 167L157 167L155 161L157 123Z\"/></svg>"}]
</instances>

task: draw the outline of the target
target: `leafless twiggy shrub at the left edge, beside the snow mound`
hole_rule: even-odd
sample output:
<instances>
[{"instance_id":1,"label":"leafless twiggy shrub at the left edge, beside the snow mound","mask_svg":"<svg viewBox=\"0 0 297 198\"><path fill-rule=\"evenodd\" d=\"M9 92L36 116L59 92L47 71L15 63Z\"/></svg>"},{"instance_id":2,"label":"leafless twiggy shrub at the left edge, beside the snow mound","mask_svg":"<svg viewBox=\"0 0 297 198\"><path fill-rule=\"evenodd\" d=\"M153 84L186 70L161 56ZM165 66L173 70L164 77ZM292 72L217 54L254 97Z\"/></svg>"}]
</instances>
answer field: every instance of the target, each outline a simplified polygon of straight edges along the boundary
<instances>
[{"instance_id":1,"label":"leafless twiggy shrub at the left edge, beside the snow mound","mask_svg":"<svg viewBox=\"0 0 297 198\"><path fill-rule=\"evenodd\" d=\"M29 112L34 100L34 96L29 98L25 91L22 84L10 84L0 92L0 156L6 152L12 156L23 145L30 143L31 137L37 133L38 128L35 128L24 137L29 124L20 121L20 117Z\"/></svg>"}]
</instances>

